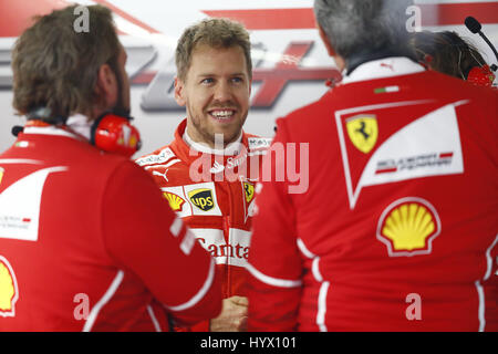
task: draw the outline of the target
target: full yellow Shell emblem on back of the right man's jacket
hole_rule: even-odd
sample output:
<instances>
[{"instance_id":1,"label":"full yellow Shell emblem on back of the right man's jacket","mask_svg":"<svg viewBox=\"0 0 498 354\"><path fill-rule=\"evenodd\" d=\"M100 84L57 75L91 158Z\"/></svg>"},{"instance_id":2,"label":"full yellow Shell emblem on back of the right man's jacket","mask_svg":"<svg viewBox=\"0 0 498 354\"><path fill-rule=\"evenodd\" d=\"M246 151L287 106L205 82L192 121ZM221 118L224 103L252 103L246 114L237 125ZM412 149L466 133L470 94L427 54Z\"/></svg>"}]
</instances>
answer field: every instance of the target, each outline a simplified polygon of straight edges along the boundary
<instances>
[{"instance_id":1,"label":"full yellow Shell emblem on back of the right man's jacket","mask_svg":"<svg viewBox=\"0 0 498 354\"><path fill-rule=\"evenodd\" d=\"M391 204L377 225L377 239L390 257L429 254L440 232L436 209L425 199L409 197Z\"/></svg>"}]
</instances>

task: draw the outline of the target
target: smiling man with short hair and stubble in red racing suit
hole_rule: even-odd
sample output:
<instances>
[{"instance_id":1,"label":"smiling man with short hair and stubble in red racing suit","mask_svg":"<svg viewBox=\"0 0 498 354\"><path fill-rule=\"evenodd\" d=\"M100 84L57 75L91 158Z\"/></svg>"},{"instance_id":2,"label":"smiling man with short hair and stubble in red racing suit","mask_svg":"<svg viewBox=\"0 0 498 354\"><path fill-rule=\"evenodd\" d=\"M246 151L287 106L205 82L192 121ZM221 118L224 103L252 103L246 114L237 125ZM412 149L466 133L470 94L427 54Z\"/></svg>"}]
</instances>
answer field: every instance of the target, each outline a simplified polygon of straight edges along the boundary
<instances>
[{"instance_id":1,"label":"smiling man with short hair and stubble in red racing suit","mask_svg":"<svg viewBox=\"0 0 498 354\"><path fill-rule=\"evenodd\" d=\"M183 33L176 65L175 98L187 118L172 144L137 164L152 174L224 275L220 316L193 330L243 331L253 184L269 145L242 131L252 79L249 34L230 20L204 20Z\"/></svg>"}]
</instances>

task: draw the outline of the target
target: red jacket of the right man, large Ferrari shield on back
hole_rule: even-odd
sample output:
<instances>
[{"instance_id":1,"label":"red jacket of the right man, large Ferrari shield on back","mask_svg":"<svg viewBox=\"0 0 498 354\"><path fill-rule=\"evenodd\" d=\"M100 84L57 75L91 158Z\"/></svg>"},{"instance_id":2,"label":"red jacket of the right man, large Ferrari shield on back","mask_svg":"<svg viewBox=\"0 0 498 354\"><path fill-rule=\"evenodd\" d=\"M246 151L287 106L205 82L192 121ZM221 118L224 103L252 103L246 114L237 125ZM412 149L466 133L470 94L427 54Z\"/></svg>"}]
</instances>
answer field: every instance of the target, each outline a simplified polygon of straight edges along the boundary
<instances>
[{"instance_id":1,"label":"red jacket of the right man, large Ferrari shield on back","mask_svg":"<svg viewBox=\"0 0 498 354\"><path fill-rule=\"evenodd\" d=\"M497 136L495 91L404 58L279 119L309 189L262 183L249 331L498 331Z\"/></svg>"}]
</instances>

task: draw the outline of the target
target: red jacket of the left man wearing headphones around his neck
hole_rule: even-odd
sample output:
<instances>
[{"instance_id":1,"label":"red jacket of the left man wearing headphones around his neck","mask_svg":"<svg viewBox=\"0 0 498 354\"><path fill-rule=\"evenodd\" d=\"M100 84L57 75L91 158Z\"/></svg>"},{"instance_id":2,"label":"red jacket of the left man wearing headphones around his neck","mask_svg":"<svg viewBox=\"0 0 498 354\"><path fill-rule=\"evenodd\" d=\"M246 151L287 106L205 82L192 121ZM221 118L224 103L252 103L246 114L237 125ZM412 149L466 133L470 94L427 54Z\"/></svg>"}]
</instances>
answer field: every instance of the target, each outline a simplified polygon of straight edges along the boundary
<instances>
[{"instance_id":1,"label":"red jacket of the left man wearing headphones around his neck","mask_svg":"<svg viewBox=\"0 0 498 354\"><path fill-rule=\"evenodd\" d=\"M0 331L168 331L216 316L219 288L133 162L53 126L0 155Z\"/></svg>"}]
</instances>

